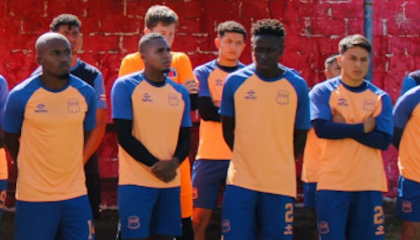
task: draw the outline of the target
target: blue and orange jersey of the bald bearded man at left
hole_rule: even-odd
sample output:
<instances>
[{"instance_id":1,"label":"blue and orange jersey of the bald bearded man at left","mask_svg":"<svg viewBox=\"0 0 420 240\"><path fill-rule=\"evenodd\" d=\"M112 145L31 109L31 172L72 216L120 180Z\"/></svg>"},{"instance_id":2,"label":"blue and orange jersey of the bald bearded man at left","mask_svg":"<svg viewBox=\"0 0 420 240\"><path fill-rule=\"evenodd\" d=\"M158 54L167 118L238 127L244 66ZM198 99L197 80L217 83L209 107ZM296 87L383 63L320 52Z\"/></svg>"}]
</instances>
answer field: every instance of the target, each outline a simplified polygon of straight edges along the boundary
<instances>
[{"instance_id":1,"label":"blue and orange jersey of the bald bearded man at left","mask_svg":"<svg viewBox=\"0 0 420 240\"><path fill-rule=\"evenodd\" d=\"M95 127L91 86L70 75L61 90L31 77L11 92L4 131L20 134L16 199L45 202L86 194L83 172L84 131Z\"/></svg>"}]
</instances>

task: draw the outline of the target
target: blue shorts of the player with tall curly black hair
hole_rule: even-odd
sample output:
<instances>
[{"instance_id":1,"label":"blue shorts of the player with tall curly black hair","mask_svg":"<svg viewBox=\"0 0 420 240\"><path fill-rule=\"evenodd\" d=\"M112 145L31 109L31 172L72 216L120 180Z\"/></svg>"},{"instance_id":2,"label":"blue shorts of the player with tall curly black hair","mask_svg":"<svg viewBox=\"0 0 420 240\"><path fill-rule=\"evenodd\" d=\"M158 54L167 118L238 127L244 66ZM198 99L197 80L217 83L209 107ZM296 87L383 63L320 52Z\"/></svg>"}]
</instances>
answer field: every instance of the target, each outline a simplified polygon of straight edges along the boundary
<instances>
[{"instance_id":1,"label":"blue shorts of the player with tall curly black hair","mask_svg":"<svg viewBox=\"0 0 420 240\"><path fill-rule=\"evenodd\" d=\"M223 200L222 232L225 240L293 239L295 199L226 186Z\"/></svg>"}]
</instances>

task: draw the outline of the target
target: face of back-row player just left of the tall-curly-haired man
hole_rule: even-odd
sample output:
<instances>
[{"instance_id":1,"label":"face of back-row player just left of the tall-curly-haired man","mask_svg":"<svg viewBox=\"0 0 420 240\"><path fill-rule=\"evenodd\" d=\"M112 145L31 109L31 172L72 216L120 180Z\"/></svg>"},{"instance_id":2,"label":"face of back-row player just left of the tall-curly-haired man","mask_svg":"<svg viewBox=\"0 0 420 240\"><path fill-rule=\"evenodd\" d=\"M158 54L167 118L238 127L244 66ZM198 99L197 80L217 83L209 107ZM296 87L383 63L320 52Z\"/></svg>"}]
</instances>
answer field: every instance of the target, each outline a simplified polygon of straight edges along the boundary
<instances>
[{"instance_id":1,"label":"face of back-row player just left of the tall-curly-haired man","mask_svg":"<svg viewBox=\"0 0 420 240\"><path fill-rule=\"evenodd\" d=\"M229 61L237 61L245 48L245 39L240 33L226 32L216 38L215 43L220 56Z\"/></svg>"}]
</instances>

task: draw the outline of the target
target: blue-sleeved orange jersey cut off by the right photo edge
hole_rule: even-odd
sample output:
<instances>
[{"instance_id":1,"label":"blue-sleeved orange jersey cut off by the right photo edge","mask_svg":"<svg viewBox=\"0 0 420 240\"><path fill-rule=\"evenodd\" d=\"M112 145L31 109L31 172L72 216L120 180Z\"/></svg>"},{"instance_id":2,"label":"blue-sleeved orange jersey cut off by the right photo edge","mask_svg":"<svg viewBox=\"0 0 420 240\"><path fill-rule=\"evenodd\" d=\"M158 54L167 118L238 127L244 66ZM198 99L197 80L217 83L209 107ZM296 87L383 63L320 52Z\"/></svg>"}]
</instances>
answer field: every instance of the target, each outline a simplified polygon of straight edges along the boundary
<instances>
[{"instance_id":1,"label":"blue-sleeved orange jersey cut off by the right photo edge","mask_svg":"<svg viewBox=\"0 0 420 240\"><path fill-rule=\"evenodd\" d=\"M399 146L398 168L400 174L420 182L420 87L402 95L394 108L394 124L403 129Z\"/></svg>"}]
</instances>

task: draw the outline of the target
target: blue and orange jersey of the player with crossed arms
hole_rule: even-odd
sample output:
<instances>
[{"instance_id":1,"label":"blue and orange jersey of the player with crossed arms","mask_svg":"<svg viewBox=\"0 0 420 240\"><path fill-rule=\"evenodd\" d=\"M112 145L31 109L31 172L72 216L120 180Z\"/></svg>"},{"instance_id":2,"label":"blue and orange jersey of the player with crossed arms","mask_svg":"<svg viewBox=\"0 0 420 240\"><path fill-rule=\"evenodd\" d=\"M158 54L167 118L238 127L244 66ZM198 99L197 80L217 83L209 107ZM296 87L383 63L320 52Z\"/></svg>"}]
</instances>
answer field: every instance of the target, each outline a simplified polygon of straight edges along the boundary
<instances>
[{"instance_id":1,"label":"blue and orange jersey of the player with crossed arms","mask_svg":"<svg viewBox=\"0 0 420 240\"><path fill-rule=\"evenodd\" d=\"M376 118L376 131L393 134L392 103L389 95L368 81L352 89L339 77L317 84L310 92L311 119L332 121L341 114L347 124ZM322 149L318 190L387 191L381 150L353 138L325 139Z\"/></svg>"}]
</instances>

